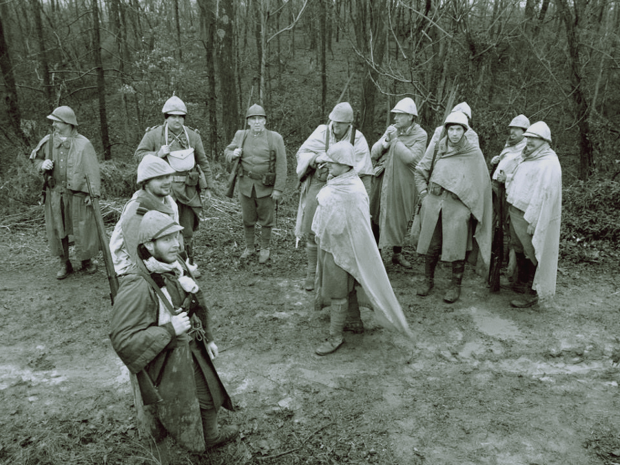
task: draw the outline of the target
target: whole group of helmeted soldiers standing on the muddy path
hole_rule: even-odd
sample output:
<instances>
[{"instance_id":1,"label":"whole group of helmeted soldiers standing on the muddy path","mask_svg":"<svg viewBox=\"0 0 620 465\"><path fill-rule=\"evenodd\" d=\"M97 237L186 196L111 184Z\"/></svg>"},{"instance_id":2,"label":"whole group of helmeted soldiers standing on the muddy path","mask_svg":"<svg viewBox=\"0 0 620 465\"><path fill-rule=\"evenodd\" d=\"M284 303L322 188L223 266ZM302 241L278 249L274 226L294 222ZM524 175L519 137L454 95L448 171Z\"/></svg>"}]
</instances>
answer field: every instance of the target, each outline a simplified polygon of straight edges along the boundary
<instances>
[{"instance_id":1,"label":"whole group of helmeted soldiers standing on the muddy path","mask_svg":"<svg viewBox=\"0 0 620 465\"><path fill-rule=\"evenodd\" d=\"M162 112L165 122L147 130L136 149L139 189L110 239L121 284L110 338L140 388L156 442L167 431L190 450L203 451L238 433L237 426L218 426L220 406L232 406L211 362L218 348L194 262L194 231L213 179L200 135L185 125L185 103L172 96ZM391 249L394 265L412 267L402 254L412 218L411 236L424 256L418 296L433 292L442 260L452 268L444 301L458 300L466 261L488 270L498 222L506 225L509 256L517 264L513 289L523 293L513 307L530 307L555 293L561 168L546 123L515 117L502 153L491 160L490 176L466 103L453 108L428 145L413 99L399 101L392 114L394 123L369 147L353 125L351 105L338 103L297 152L295 234L305 238L303 285L315 292L316 307L329 305L329 336L318 355L337 350L344 331L364 331L360 289L380 323L411 335L381 251ZM45 176L45 224L50 250L60 257L56 278L63 279L72 273L70 234L82 269L96 271L91 196L100 192L99 166L70 107L58 107L48 118L54 130L31 158ZM271 229L287 157L282 136L266 129L260 105L249 107L246 120L248 129L236 132L225 156L236 167L245 237L240 258L254 256L258 224L258 261L265 263L273 260Z\"/></svg>"}]
</instances>

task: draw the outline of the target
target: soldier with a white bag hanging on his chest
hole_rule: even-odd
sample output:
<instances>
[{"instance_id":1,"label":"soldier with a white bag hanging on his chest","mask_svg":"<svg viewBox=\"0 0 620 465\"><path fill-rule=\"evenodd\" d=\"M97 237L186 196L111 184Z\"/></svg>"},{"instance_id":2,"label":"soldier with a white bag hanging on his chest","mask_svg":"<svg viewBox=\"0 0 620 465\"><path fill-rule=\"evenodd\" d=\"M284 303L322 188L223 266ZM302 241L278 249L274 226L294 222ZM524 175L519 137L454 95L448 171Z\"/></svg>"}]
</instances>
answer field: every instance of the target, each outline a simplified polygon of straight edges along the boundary
<instances>
[{"instance_id":1,"label":"soldier with a white bag hanging on his chest","mask_svg":"<svg viewBox=\"0 0 620 465\"><path fill-rule=\"evenodd\" d=\"M164 158L175 170L172 176L172 197L178 205L179 224L183 226L185 254L194 264L194 231L200 225L200 198L211 199L213 179L203 140L197 130L184 125L187 116L185 103L177 96L170 97L161 110L165 123L147 129L135 158L139 163L149 154Z\"/></svg>"}]
</instances>

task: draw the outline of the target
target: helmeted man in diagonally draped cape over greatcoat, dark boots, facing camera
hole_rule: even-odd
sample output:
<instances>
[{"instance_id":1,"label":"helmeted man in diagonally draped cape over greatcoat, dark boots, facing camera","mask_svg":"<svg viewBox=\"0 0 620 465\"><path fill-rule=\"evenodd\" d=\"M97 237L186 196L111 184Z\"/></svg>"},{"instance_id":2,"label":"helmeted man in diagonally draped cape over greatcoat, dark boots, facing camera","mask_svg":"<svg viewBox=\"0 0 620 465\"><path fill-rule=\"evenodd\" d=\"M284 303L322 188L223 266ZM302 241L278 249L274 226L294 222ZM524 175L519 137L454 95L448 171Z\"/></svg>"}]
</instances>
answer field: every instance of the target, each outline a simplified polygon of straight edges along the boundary
<instances>
[{"instance_id":1,"label":"helmeted man in diagonally draped cape over greatcoat, dark boots, facing camera","mask_svg":"<svg viewBox=\"0 0 620 465\"><path fill-rule=\"evenodd\" d=\"M422 197L417 252L425 255L424 286L417 295L431 293L441 257L452 263L452 282L444 301L453 303L461 295L465 258L473 249L473 240L484 265L489 265L493 205L484 156L465 136L467 117L451 113L445 126L446 136L439 141L436 156L434 149L427 151L415 172Z\"/></svg>"}]
</instances>

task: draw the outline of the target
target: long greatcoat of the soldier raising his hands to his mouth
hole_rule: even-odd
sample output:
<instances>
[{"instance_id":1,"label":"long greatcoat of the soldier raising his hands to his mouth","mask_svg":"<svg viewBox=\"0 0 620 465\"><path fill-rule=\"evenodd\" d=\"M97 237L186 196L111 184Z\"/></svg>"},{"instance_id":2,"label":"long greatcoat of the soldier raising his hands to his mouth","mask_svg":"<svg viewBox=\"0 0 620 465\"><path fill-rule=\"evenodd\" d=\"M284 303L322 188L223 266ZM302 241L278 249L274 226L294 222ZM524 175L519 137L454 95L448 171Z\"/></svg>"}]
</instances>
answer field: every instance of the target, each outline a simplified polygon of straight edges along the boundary
<instances>
[{"instance_id":1,"label":"long greatcoat of the soldier raising his hands to his mouth","mask_svg":"<svg viewBox=\"0 0 620 465\"><path fill-rule=\"evenodd\" d=\"M424 155L426 131L417 123L384 148L387 131L371 150L375 177L370 198L373 223L379 226L379 248L402 246L417 205L415 166ZM384 169L382 169L384 167Z\"/></svg>"}]
</instances>

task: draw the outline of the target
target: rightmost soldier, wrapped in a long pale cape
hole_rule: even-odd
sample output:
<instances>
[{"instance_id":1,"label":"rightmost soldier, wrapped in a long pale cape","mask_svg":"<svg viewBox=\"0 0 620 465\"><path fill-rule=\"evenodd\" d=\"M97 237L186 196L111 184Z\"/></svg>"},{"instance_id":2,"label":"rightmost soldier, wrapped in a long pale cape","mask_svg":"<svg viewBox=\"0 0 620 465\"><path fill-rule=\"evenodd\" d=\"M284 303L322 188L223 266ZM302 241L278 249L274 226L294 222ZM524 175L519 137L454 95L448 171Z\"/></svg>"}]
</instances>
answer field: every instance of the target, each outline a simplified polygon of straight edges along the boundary
<instances>
[{"instance_id":1,"label":"rightmost soldier, wrapped in a long pale cape","mask_svg":"<svg viewBox=\"0 0 620 465\"><path fill-rule=\"evenodd\" d=\"M551 130L538 121L524 136L523 161L506 188L510 245L527 280L526 296L510 302L517 308L531 307L539 297L555 294L562 214L562 169L549 146Z\"/></svg>"}]
</instances>

